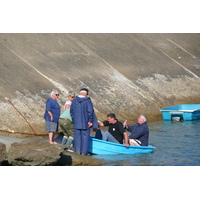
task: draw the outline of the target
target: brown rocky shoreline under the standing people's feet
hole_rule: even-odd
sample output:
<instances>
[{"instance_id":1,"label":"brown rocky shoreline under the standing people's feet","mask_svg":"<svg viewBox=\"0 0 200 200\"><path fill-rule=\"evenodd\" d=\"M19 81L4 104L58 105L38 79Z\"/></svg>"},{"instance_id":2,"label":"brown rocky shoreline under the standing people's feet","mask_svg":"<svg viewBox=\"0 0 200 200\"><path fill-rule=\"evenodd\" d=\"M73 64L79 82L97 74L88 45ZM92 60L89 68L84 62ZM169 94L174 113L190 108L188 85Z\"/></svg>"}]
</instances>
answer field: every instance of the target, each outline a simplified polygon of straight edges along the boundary
<instances>
[{"instance_id":1,"label":"brown rocky shoreline under the standing people's feet","mask_svg":"<svg viewBox=\"0 0 200 200\"><path fill-rule=\"evenodd\" d=\"M14 138L0 135L0 166L100 166L106 162L68 152L40 137Z\"/></svg>"}]
</instances>

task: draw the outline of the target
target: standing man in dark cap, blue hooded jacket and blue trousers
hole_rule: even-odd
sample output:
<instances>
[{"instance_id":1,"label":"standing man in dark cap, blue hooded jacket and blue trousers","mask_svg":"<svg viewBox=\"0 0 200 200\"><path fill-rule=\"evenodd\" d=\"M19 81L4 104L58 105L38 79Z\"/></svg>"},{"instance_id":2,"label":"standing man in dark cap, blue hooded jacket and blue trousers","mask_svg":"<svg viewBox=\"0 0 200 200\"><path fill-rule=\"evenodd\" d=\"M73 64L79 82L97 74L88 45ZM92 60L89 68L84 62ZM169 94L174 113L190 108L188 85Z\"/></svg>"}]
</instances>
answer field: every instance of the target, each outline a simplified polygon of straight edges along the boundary
<instances>
[{"instance_id":1,"label":"standing man in dark cap, blue hooded jacket and blue trousers","mask_svg":"<svg viewBox=\"0 0 200 200\"><path fill-rule=\"evenodd\" d=\"M88 89L82 88L80 95L72 101L70 109L74 125L74 148L76 153L83 155L88 154L90 128L94 123L97 124L92 101L87 95Z\"/></svg>"}]
</instances>

